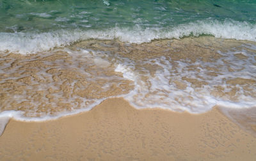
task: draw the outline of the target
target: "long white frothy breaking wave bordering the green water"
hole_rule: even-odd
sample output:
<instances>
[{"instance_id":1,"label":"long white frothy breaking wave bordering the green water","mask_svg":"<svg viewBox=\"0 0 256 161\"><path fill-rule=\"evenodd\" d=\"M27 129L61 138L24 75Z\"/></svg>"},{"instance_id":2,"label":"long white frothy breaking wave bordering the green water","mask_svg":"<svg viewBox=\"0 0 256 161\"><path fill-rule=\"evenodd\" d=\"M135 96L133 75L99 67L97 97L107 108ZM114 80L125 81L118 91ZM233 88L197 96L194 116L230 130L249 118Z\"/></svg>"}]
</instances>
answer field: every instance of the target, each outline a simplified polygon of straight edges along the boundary
<instances>
[{"instance_id":1,"label":"long white frothy breaking wave bordering the green water","mask_svg":"<svg viewBox=\"0 0 256 161\"><path fill-rule=\"evenodd\" d=\"M67 19L56 19L65 20ZM86 27L90 27L87 25ZM234 20L201 20L171 26L167 28L155 28L134 26L113 27L102 30L80 30L80 29L61 29L48 33L0 33L0 50L19 52L20 54L31 54L70 45L81 40L90 38L113 39L118 38L123 42L143 43L161 38L182 38L189 35L200 36L200 34L211 34L218 38L234 38L237 40L256 41L256 26L248 22L237 22Z\"/></svg>"}]
</instances>

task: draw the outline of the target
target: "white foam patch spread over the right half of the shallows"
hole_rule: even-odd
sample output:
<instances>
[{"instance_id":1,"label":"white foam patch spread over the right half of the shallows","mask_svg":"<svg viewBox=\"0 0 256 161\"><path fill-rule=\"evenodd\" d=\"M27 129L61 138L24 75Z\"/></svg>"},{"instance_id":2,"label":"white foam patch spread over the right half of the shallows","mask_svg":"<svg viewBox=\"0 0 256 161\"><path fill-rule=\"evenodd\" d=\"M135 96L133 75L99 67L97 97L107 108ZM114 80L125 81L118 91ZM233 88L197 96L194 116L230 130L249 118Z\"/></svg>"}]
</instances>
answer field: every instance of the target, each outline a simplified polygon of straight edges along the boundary
<instances>
[{"instance_id":1,"label":"white foam patch spread over the right half of the shallows","mask_svg":"<svg viewBox=\"0 0 256 161\"><path fill-rule=\"evenodd\" d=\"M160 107L172 111L188 111L198 114L211 110L215 105L234 109L250 108L255 106L255 98L245 95L246 91L244 90L246 89L243 89L243 86L239 84L228 86L226 84L227 80L236 78L256 79L256 72L250 68L255 63L253 54L246 53L248 59L241 60L234 56L236 53L238 52L220 52L224 57L212 63L199 60L193 64L186 63L186 61L176 61L179 64L177 68L172 68L170 61L163 56L139 62L141 65L151 64L163 67L157 70L154 76L149 74L147 68L135 71L129 70L136 65L136 63L131 61L116 66L115 71L122 72L124 78L134 81L134 90L124 96L124 98L138 109ZM228 66L224 65L222 60L230 61L230 67L237 70L235 72L228 72ZM134 66L132 67L132 65ZM200 65L202 67L198 66L198 70L189 70L190 65ZM207 75L209 71L204 70L207 66L220 66L218 68L220 72L217 72L218 76L212 77L212 75ZM243 68L241 69L242 66ZM140 70L143 72L140 72ZM141 73L146 74L141 75ZM148 81L143 82L142 77L148 77ZM200 88L195 88L190 82L182 80L182 77L204 81L207 84ZM200 78L204 78L204 80L200 80ZM185 83L186 88L177 88L173 81ZM211 91L215 86L224 88L224 93L230 92L232 88L236 88L237 91L232 96L214 96L211 94ZM252 86L251 92L256 93L255 86ZM237 100L232 100L233 96L237 97Z\"/></svg>"}]
</instances>

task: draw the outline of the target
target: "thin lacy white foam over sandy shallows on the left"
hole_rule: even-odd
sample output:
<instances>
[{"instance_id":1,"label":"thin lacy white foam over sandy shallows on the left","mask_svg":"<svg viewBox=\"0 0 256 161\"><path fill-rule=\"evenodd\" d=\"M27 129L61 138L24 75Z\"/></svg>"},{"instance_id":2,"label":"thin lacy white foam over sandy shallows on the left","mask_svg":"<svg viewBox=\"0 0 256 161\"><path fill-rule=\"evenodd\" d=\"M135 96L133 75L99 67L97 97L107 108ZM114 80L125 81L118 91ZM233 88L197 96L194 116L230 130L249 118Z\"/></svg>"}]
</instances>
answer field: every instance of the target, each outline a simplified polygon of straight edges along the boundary
<instances>
[{"instance_id":1,"label":"thin lacy white foam over sandy shallows on the left","mask_svg":"<svg viewBox=\"0 0 256 161\"><path fill-rule=\"evenodd\" d=\"M60 49L53 50L52 53L48 52L46 54L38 54L42 57L51 56L54 54L54 52L58 52ZM6 95L12 95L8 100L4 100L3 104L0 105L0 110L3 109L12 109L12 103L15 102L15 104L20 104L22 102L29 102L29 109L22 109L21 111L2 111L0 112L0 118L3 118L2 124L0 127L3 129L5 127L6 120L5 118L13 118L20 121L45 121L49 119L56 119L63 116L68 116L72 114L77 114L79 112L89 111L92 109L92 107L95 107L95 105L100 104L103 100L109 98L108 95L102 95L101 97L98 96L97 98L93 98L90 96L80 96L76 95L74 93L70 93L67 96L64 96L61 89L61 85L64 81L58 81L54 82L52 79L52 76L54 74L47 73L47 70L51 69L51 66L55 64L55 68L58 69L70 69L69 71L72 71L74 73L78 72L80 75L77 75L77 77L81 78L84 77L86 79L81 79L86 82L86 84L83 86L79 86L79 88L75 87L76 82L79 79L74 78L72 81L66 81L68 88L70 88L70 91L75 90L86 90L86 88L90 88L90 85L95 84L95 82L99 82L102 80L105 80L106 83L104 84L97 84L93 85L94 87L97 86L97 89L92 89L92 93L100 93L101 92L107 92L109 89L113 87L113 85L118 86L118 81L124 81L125 79L120 77L120 75L108 75L105 74L103 71L108 71L107 73L113 72L114 68L111 68L110 61L108 61L108 56L105 52L95 52L95 51L89 51L84 49L79 50L70 50L70 49L63 49L62 52L68 52L70 54L70 58L72 61L72 65L68 62L65 62L63 60L56 60L56 61L44 61L45 64L49 65L49 67L40 68L39 72L37 72L35 75L44 81L36 81L35 79L31 79L31 84L29 86L26 86L26 84L23 84L24 88L23 93L15 93L10 94L8 93L8 90L6 91ZM39 56L39 57L40 57ZM22 60L22 61L31 61L34 60L35 57L31 57L31 59L28 60ZM35 58L36 59L36 58ZM11 61L12 62L12 61ZM58 65L58 66L56 66ZM90 68L92 67L93 68ZM6 70L4 73L6 74L12 74L12 73L19 73L20 77L28 76L26 74L22 75L24 72L23 70L19 70L20 66L17 66L17 68L14 68L12 70ZM5 66L0 66L0 71L2 71L5 68ZM110 71L110 72L109 72ZM56 75L59 75L60 73L55 73ZM20 78L19 77L19 78ZM0 80L0 83L6 82L10 79L18 79L17 77L6 77L4 79ZM22 83L22 82L20 82ZM36 86L33 86L35 85ZM89 86L89 87L88 87ZM46 97L47 94L49 94L47 89L50 89L57 92L51 93L52 98L54 101L49 101ZM6 88L7 89L7 88ZM3 89L4 90L4 89ZM33 98L34 95L36 95L36 91L44 91L42 95L42 98L40 100L35 100ZM64 104L70 104L70 110L63 109L61 112L55 112L52 114L51 109L46 109L42 112L37 112L38 107L42 107L45 105L45 107L48 105L48 107L58 107L58 98L64 98L61 102ZM80 100L80 102L77 102L77 99ZM44 105L42 105L44 103ZM3 109L2 109L3 108ZM44 108L44 107L43 107ZM26 111L26 116L24 116ZM38 117L38 115L40 115Z\"/></svg>"}]
</instances>

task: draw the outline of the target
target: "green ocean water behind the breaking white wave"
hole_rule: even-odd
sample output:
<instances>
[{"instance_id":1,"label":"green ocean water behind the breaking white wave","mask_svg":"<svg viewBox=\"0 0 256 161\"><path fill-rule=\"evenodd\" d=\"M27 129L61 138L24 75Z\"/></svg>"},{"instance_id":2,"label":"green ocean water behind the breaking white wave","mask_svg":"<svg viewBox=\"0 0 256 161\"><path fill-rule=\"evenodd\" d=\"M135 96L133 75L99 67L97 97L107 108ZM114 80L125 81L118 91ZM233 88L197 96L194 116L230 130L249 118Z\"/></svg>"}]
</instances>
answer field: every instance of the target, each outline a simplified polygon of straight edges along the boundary
<instances>
[{"instance_id":1,"label":"green ocean water behind the breaking white wave","mask_svg":"<svg viewBox=\"0 0 256 161\"><path fill-rule=\"evenodd\" d=\"M197 20L255 24L255 1L0 1L0 31L174 27Z\"/></svg>"}]
</instances>

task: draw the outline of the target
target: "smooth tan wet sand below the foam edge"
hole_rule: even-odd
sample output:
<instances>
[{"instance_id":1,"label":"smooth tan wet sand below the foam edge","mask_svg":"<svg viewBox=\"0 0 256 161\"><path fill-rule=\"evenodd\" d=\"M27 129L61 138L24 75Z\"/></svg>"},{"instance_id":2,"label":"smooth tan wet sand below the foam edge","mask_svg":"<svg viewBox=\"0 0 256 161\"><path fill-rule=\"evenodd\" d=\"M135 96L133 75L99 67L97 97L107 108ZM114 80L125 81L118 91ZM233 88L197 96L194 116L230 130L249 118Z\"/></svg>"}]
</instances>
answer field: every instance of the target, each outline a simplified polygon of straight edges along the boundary
<instances>
[{"instance_id":1,"label":"smooth tan wet sand below the foam edge","mask_svg":"<svg viewBox=\"0 0 256 161\"><path fill-rule=\"evenodd\" d=\"M137 110L111 98L52 121L10 120L0 160L255 160L256 137L217 108L205 114Z\"/></svg>"}]
</instances>

